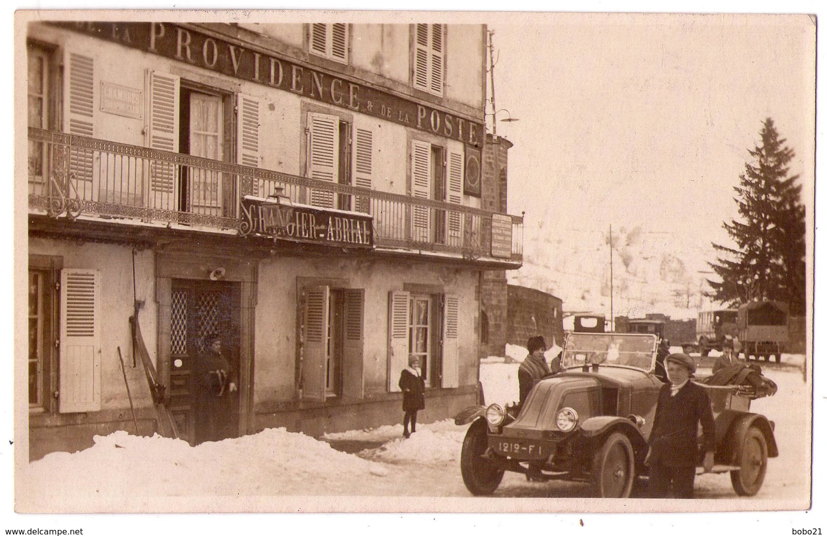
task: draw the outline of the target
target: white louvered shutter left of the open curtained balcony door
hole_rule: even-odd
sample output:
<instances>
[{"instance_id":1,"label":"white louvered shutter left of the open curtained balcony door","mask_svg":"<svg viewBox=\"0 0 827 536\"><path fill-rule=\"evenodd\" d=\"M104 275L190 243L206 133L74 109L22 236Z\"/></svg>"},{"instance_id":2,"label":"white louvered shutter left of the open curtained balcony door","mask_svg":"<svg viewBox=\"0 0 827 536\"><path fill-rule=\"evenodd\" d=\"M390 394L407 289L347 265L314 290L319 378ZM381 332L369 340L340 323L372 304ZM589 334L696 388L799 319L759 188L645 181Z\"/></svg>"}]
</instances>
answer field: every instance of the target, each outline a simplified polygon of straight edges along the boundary
<instances>
[{"instance_id":1,"label":"white louvered shutter left of the open curtained balcony door","mask_svg":"<svg viewBox=\"0 0 827 536\"><path fill-rule=\"evenodd\" d=\"M146 145L152 149L178 152L178 110L180 78L174 74L148 72ZM151 199L155 208L176 208L175 166L168 162L150 164Z\"/></svg>"}]
</instances>

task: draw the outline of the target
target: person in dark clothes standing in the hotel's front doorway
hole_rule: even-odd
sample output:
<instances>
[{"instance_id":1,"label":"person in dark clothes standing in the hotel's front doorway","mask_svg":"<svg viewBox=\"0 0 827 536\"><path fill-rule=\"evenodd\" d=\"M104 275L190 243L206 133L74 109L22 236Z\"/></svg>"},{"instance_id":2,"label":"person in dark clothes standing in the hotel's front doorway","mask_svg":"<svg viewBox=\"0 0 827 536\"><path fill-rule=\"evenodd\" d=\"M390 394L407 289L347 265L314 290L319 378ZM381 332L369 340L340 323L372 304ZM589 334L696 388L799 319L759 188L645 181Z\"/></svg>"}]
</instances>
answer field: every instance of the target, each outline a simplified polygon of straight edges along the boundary
<instances>
[{"instance_id":1,"label":"person in dark clothes standing in the hotel's front doorway","mask_svg":"<svg viewBox=\"0 0 827 536\"><path fill-rule=\"evenodd\" d=\"M229 423L228 393L237 390L227 358L222 355L221 336L207 337L206 351L198 354L194 366L195 438L198 443L221 441L227 437Z\"/></svg>"}]
</instances>

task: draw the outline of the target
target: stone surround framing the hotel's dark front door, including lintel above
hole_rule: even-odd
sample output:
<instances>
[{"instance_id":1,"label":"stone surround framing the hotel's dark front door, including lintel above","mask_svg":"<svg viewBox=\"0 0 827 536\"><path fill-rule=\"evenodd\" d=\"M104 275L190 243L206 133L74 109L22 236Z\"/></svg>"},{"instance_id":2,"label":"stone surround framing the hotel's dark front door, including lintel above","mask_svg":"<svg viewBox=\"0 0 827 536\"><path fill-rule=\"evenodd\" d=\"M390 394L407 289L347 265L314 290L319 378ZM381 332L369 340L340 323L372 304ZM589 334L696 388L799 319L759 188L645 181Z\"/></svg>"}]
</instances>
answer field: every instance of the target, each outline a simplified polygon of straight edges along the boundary
<instances>
[{"instance_id":1,"label":"stone surround framing the hotel's dark front door, including lintel above","mask_svg":"<svg viewBox=\"0 0 827 536\"><path fill-rule=\"evenodd\" d=\"M158 376L170 385L170 321L172 280L209 281L213 270L223 268L221 280L240 283L238 342L238 435L255 427L253 407L256 294L258 261L198 254L194 251L163 251L155 256L155 302L158 305Z\"/></svg>"}]
</instances>

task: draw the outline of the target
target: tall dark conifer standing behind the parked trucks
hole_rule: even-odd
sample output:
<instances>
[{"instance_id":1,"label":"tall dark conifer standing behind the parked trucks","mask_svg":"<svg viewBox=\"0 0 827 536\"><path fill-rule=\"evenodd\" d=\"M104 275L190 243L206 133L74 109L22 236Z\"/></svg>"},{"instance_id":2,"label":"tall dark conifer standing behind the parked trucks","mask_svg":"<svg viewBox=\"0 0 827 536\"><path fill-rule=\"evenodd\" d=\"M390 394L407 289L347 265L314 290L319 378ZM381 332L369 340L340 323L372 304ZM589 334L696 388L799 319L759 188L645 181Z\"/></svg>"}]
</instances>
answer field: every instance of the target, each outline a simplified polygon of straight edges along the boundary
<instances>
[{"instance_id":1,"label":"tall dark conifer standing behind the parked trucks","mask_svg":"<svg viewBox=\"0 0 827 536\"><path fill-rule=\"evenodd\" d=\"M799 175L787 177L795 152L785 143L767 117L761 145L748 151L753 162L734 187L740 219L724 223L735 246L712 244L723 255L710 262L720 278L708 280L710 296L724 304L777 299L791 314L804 313L805 213Z\"/></svg>"}]
</instances>

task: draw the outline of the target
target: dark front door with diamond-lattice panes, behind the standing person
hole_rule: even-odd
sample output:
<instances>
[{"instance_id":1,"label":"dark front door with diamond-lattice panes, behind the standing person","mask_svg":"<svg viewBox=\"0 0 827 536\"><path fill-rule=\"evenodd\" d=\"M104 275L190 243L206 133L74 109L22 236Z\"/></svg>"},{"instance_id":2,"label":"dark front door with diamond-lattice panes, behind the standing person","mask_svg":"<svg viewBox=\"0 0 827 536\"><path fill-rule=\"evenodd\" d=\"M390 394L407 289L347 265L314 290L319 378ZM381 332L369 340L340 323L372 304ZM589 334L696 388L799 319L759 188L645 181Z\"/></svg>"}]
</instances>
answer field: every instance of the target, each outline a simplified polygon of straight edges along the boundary
<instances>
[{"instance_id":1,"label":"dark front door with diamond-lattice panes, behind the standing person","mask_svg":"<svg viewBox=\"0 0 827 536\"><path fill-rule=\"evenodd\" d=\"M173 280L170 316L170 410L179 435L190 444L238 435L238 391L224 391L210 404L197 393L198 360L208 351L207 339L218 333L230 378L238 385L240 361L241 285L211 280Z\"/></svg>"}]
</instances>

